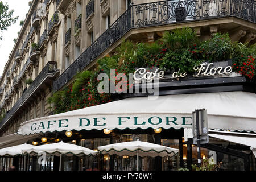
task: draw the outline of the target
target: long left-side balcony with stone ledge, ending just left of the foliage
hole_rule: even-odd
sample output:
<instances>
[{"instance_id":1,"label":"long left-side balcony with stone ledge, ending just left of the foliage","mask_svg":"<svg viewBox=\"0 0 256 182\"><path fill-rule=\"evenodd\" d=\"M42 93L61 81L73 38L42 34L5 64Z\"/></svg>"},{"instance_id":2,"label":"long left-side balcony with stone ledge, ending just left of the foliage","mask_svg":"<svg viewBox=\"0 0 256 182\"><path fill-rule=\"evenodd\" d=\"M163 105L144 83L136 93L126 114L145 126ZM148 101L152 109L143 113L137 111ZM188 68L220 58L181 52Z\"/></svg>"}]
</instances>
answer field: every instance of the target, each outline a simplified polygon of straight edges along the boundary
<instances>
[{"instance_id":1,"label":"long left-side balcony with stone ledge, ending just left of the foliage","mask_svg":"<svg viewBox=\"0 0 256 182\"><path fill-rule=\"evenodd\" d=\"M0 123L0 128L2 128L2 126L5 125L5 123L9 121L11 117L17 114L19 109L23 109L22 107L26 108L27 101L33 100L34 96L40 94L40 90L44 90L46 84L51 85L52 81L58 76L58 73L59 70L57 70L57 63L49 61L46 64L46 67L42 69L39 75L32 82L32 84L26 90L24 90L22 97L20 97L10 111L6 113L5 118L3 118L2 122ZM6 97L8 98L8 94Z\"/></svg>"}]
</instances>

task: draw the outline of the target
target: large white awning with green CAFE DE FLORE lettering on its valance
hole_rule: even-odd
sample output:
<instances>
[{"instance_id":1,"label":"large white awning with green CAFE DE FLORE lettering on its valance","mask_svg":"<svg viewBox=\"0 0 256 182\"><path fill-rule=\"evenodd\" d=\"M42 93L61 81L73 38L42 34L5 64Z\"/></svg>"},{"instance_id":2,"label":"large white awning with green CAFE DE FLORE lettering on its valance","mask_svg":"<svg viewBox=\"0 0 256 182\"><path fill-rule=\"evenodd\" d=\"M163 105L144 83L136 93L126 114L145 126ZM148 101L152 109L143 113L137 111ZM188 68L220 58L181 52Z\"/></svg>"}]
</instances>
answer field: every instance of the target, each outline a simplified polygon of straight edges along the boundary
<instances>
[{"instance_id":1,"label":"large white awning with green CAFE DE FLORE lettering on its valance","mask_svg":"<svg viewBox=\"0 0 256 182\"><path fill-rule=\"evenodd\" d=\"M133 97L32 119L19 133L103 129L180 129L191 127L192 111L207 109L209 129L256 132L256 95L249 92L215 92Z\"/></svg>"}]
</instances>

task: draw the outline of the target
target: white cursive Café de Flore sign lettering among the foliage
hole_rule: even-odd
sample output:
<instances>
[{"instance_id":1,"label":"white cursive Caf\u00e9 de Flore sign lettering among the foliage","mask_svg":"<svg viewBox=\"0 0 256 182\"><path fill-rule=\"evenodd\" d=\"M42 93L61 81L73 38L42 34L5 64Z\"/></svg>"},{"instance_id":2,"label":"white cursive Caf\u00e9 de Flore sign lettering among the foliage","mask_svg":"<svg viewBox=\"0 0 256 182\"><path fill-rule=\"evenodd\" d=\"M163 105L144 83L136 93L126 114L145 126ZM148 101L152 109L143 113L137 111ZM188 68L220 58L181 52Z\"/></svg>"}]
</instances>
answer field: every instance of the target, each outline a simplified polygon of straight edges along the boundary
<instances>
[{"instance_id":1,"label":"white cursive Caf\u00e9 de Flore sign lettering among the foliage","mask_svg":"<svg viewBox=\"0 0 256 182\"><path fill-rule=\"evenodd\" d=\"M200 76L215 76L215 75L229 75L232 73L232 67L214 67L213 63L202 63L200 65L195 65L193 68L195 73L193 77L200 77ZM172 73L172 78L183 78L187 76L187 73L180 73L180 71ZM155 78L163 78L164 71L161 68L156 69L154 72L147 72L146 68L139 68L134 73L134 80L141 81L146 80L147 82L151 82Z\"/></svg>"}]
</instances>

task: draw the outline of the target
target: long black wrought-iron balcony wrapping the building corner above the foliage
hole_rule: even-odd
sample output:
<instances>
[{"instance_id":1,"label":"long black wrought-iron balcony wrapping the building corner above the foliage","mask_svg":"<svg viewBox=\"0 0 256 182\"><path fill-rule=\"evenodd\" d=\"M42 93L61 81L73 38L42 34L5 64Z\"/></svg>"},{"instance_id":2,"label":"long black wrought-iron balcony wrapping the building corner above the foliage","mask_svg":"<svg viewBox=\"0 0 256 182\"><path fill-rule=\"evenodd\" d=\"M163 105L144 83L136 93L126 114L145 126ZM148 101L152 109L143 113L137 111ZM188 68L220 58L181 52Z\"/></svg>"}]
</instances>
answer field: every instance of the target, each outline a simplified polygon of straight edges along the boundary
<instances>
[{"instance_id":1,"label":"long black wrought-iron balcony wrapping the building corner above the foliage","mask_svg":"<svg viewBox=\"0 0 256 182\"><path fill-rule=\"evenodd\" d=\"M94 1L86 6L86 19L94 11ZM216 4L209 9L210 3ZM246 6L245 6L246 4ZM216 20L218 18L239 18L256 23L255 1L159 1L132 5L123 13L101 36L89 46L69 68L67 68L53 83L55 90L61 89L72 80L77 72L85 69L113 43L121 40L128 31L135 28L164 26L185 22L200 22L200 20Z\"/></svg>"}]
</instances>

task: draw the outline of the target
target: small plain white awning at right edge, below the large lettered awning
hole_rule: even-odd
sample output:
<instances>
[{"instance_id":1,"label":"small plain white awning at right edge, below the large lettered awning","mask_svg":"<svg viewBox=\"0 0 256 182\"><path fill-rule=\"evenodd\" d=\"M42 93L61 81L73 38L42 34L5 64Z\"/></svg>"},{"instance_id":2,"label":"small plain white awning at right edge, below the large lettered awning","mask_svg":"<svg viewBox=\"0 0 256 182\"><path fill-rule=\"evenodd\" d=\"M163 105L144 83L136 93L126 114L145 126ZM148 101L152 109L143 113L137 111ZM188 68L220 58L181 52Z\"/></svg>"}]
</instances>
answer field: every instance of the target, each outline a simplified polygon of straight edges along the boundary
<instances>
[{"instance_id":1,"label":"small plain white awning at right edge, below the large lettered awning","mask_svg":"<svg viewBox=\"0 0 256 182\"><path fill-rule=\"evenodd\" d=\"M208 134L209 137L214 137L222 140L226 140L228 142L233 142L233 143L239 143L243 144L245 146L250 146L250 149L253 151L253 154L256 157L256 136L251 136L247 135L242 136L242 135L234 135L234 134Z\"/></svg>"}]
</instances>

